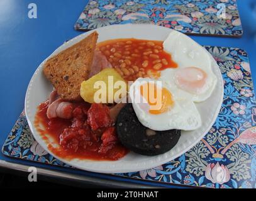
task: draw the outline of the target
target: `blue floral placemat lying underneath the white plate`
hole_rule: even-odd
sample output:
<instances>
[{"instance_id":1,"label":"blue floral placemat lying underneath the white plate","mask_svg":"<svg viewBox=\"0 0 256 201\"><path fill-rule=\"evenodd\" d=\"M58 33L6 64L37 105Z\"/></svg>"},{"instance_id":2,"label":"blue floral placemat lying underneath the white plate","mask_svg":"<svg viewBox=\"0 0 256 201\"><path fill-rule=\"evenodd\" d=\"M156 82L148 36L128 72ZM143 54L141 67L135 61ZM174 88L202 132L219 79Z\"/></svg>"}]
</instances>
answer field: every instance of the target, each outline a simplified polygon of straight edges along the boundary
<instances>
[{"instance_id":1,"label":"blue floral placemat lying underneath the white plate","mask_svg":"<svg viewBox=\"0 0 256 201\"><path fill-rule=\"evenodd\" d=\"M256 105L247 53L238 48L205 48L218 62L225 83L220 114L209 133L169 163L116 175L200 187L256 188ZM35 141L25 112L2 151L6 156L70 168Z\"/></svg>"}]
</instances>

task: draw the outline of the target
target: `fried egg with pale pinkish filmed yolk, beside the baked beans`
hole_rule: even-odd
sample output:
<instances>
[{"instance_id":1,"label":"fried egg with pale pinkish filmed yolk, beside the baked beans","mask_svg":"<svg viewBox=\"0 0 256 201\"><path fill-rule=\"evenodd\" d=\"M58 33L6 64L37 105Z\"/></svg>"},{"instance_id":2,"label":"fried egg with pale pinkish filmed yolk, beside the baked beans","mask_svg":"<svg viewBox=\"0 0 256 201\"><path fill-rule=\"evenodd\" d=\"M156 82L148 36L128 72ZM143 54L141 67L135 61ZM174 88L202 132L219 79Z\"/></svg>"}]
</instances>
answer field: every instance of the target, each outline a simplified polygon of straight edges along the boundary
<instances>
[{"instance_id":1,"label":"fried egg with pale pinkish filmed yolk, beside the baked beans","mask_svg":"<svg viewBox=\"0 0 256 201\"><path fill-rule=\"evenodd\" d=\"M217 79L211 67L211 55L188 36L172 31L164 41L164 50L172 55L177 68L162 70L159 80L169 85L177 99L202 102L211 95Z\"/></svg>"}]
</instances>

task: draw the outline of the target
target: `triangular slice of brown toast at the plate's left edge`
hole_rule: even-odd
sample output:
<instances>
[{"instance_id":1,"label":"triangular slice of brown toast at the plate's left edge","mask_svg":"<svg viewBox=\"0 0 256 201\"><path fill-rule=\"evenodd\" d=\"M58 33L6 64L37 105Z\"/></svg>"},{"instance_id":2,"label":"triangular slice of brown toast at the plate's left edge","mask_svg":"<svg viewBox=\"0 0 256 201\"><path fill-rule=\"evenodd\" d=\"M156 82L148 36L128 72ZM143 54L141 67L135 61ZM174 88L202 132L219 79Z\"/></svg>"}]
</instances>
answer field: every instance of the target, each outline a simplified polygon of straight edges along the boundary
<instances>
[{"instance_id":1,"label":"triangular slice of brown toast at the plate's left edge","mask_svg":"<svg viewBox=\"0 0 256 201\"><path fill-rule=\"evenodd\" d=\"M88 79L97 36L94 31L45 63L43 73L63 99L81 100L80 87Z\"/></svg>"}]
</instances>

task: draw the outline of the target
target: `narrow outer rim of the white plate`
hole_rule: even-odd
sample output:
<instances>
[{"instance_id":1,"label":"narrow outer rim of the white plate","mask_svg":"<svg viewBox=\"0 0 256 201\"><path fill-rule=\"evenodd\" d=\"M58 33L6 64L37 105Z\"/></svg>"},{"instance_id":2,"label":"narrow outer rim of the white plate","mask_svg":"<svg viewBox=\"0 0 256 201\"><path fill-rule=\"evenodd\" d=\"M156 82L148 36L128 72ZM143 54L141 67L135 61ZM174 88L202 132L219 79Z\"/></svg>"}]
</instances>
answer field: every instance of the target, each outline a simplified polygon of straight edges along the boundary
<instances>
[{"instance_id":1,"label":"narrow outer rim of the white plate","mask_svg":"<svg viewBox=\"0 0 256 201\"><path fill-rule=\"evenodd\" d=\"M222 77L220 68L219 68L218 64L216 63L216 61L215 61L213 58L211 58L212 60L214 60L214 65L216 65L216 67L218 67L218 69L216 70L216 72L217 72L218 74L216 74L216 73L214 73L214 72L213 72L213 73L214 73L214 75L216 75L216 77L219 77L219 78L220 78L220 80L221 80L221 83L220 83L220 84L221 84L221 86L222 86L222 87L221 87L221 97L220 97L220 100L219 100L219 103L218 103L218 107L216 108L216 111L215 111L215 113L214 113L213 120L211 121L211 124L208 125L208 128L206 129L206 131L205 131L203 134L201 134L200 136L198 136L198 138L194 139L194 142L193 142L193 143L191 143L191 144L190 144L189 146L187 146L186 148L182 149L182 151L179 151L179 153L177 153L176 155L172 156L172 158L166 158L166 157L165 157L165 158L163 158L159 163L153 163L153 165L150 164L150 163L148 163L148 165L147 165L147 166L143 166L143 168L140 167L140 166L134 166L134 167L132 168L132 170L130 170L130 168L126 169L126 168L124 168L124 167L122 167L121 169L120 169L120 168L115 168L114 165L110 168L109 165L106 165L106 168L103 170L103 168L97 169L97 166L91 166L91 167L89 167L89 168L87 168L86 166L85 166L85 167L81 167L81 166L79 166L79 165L76 165L76 164L72 163L73 160L70 160L70 161L69 161L69 160L65 160L65 158L60 158L59 156L56 156L55 154L53 154L53 153L47 148L47 144L43 141L42 138L40 138L40 134L38 134L38 132L36 131L35 127L33 126L33 122L30 121L31 119L30 119L30 116L29 116L29 108L28 108L28 103L29 103L28 97L29 97L29 95L30 95L30 87L31 87L31 85L33 84L33 81L34 81L34 79L35 79L36 74L37 74L38 72L40 72L40 70L42 71L42 66L43 66L43 64L48 60L48 58L53 57L53 55L55 55L55 53L58 52L58 50L59 50L62 46L66 45L67 48L68 48L68 47L69 47L69 43L70 43L71 41L74 41L74 40L77 40L77 39L78 39L78 40L76 41L76 43L77 43L77 42L79 42L80 40L82 40L82 38L84 38L85 36L89 35L89 34L92 33L93 31L104 30L104 29L108 29L109 27L113 27L113 28L114 28L114 26L117 26L117 27L119 27L119 26L133 26L133 28L135 28L135 26L152 26L152 27L157 27L157 28L159 28L159 29L163 29L163 30L175 31L175 30L171 30L171 29L169 29L169 28L164 28L164 27L162 27L162 26L157 26L157 25L153 25L153 24L113 24L113 25L104 26L104 27L102 27L102 28L98 28L98 29L96 29L96 30L87 31L86 33L82 33L82 34L80 34L80 35L77 35L77 36L75 36L74 38L72 38L72 39L70 39L69 41L67 41L66 43L64 43L64 44L62 44L62 45L60 45L60 46L58 46L58 48L56 48L47 58L45 58L45 60L43 60L42 63L40 63L40 65L38 65L38 67L36 68L35 72L33 73L32 77L31 77L31 80L30 80L30 82L29 82L29 84L28 84L28 88L27 88L27 90L26 90L26 95L25 95L25 114L26 114L26 119L27 119L27 121L28 121L28 125L30 126L31 133L33 134L33 137L34 137L35 140L38 142L38 144L40 144L40 146L42 146L42 148L45 149L50 155L54 156L55 158L57 158L57 159L60 160L60 161L64 161L64 163L66 163L66 164L68 164L68 165L70 165L70 166L73 166L73 167L75 167L75 168L79 168L79 169L81 169L81 170L93 171L93 172L97 172L97 173L127 173L127 172L131 172L131 171L146 170L146 169L153 168L153 167L155 167L155 166L158 166L158 165L162 165L162 164L164 164L164 163L167 163L167 162L173 160L174 158L177 158L177 157L183 155L183 154L186 153L189 149L191 149L193 146L195 146L197 143L199 143L199 141L208 133L208 131L209 131L209 129L211 128L211 126L213 126L213 124L214 124L214 122L216 121L216 118L218 117L218 114L219 114L219 112L220 112L221 105L222 105L222 102L223 102L223 96L224 96L223 77ZM178 31L178 32L179 32L179 31ZM179 32L179 33L181 33L181 32ZM182 34L183 34L183 33L182 33ZM189 37L189 36L187 36L187 37ZM190 38L190 37L189 37L189 38ZM196 41L195 41L195 42L196 42ZM197 42L196 42L196 43L197 43ZM204 47L203 47L203 48L204 48ZM204 48L204 50L205 50L206 52L208 52L205 48ZM212 57L212 56L211 56L211 57ZM213 67L212 67L212 68L213 68ZM217 78L217 79L218 79L218 78ZM32 120L34 120L33 117L32 117ZM145 156L145 157L148 157L148 156ZM92 161L90 160L90 162L92 162ZM94 161L94 163L100 163L100 162L101 162L101 161ZM104 161L104 160L103 160L103 162L104 162L104 163L111 163L111 162L113 163L114 161Z\"/></svg>"}]
</instances>

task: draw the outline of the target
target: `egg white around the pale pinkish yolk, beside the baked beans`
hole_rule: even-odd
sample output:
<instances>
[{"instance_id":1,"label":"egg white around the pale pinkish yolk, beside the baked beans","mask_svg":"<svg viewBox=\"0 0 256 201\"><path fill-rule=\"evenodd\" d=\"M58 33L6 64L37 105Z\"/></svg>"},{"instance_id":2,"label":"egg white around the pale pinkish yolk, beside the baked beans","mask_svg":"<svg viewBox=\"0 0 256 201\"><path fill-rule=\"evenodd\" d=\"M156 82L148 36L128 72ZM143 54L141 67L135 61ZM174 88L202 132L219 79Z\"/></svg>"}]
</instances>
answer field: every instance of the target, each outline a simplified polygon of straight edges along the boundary
<instances>
[{"instance_id":1,"label":"egg white around the pale pinkish yolk, beside the baked beans","mask_svg":"<svg viewBox=\"0 0 256 201\"><path fill-rule=\"evenodd\" d=\"M216 75L211 69L212 67L218 67L213 57L203 46L178 31L172 31L164 41L164 50L170 53L172 60L177 63L178 67L162 70L159 80L165 80L177 99L191 99L194 102L202 102L208 99L217 82ZM197 67L206 72L206 90L203 93L192 94L180 89L175 84L175 72L186 67Z\"/></svg>"}]
</instances>

